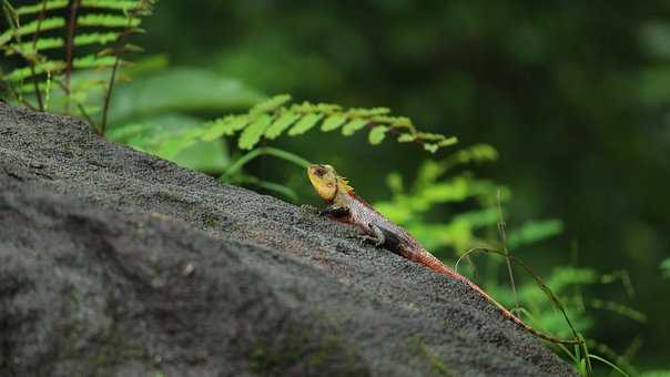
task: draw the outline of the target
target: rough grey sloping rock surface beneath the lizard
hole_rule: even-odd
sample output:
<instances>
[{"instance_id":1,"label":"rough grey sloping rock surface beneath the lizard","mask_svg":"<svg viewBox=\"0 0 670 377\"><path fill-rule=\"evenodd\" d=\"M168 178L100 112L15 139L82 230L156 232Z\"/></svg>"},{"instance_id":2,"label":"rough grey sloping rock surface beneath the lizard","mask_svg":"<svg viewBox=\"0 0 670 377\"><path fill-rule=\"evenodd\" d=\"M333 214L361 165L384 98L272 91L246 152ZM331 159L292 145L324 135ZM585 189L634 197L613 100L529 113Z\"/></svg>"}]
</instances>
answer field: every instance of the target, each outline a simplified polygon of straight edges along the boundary
<instances>
[{"instance_id":1,"label":"rough grey sloping rock surface beneath the lizard","mask_svg":"<svg viewBox=\"0 0 670 377\"><path fill-rule=\"evenodd\" d=\"M0 376L571 376L351 227L0 103Z\"/></svg>"}]
</instances>

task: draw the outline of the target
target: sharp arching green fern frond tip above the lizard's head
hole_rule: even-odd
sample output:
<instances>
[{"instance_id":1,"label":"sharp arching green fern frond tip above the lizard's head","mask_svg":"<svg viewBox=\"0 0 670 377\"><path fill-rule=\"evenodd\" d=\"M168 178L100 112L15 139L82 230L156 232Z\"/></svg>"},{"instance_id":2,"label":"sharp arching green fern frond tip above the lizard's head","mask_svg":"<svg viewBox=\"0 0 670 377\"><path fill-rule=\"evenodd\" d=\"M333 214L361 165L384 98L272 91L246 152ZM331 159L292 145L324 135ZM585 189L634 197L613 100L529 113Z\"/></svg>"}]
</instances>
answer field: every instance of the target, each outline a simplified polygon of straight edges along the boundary
<instances>
[{"instance_id":1,"label":"sharp arching green fern frond tip above the lizard's head","mask_svg":"<svg viewBox=\"0 0 670 377\"><path fill-rule=\"evenodd\" d=\"M241 132L237 145L242 150L251 150L263 139L275 140L284 133L298 136L321 124L322 132L341 129L344 136L367 128L370 144L379 144L387 135L395 134L398 141L418 142L430 152L457 141L454 136L419 132L409 119L392 116L386 108L345 110L327 103L288 105L290 101L291 96L286 94L276 95L258 103L246 114L220 118L209 123L205 137L213 140Z\"/></svg>"}]
</instances>

